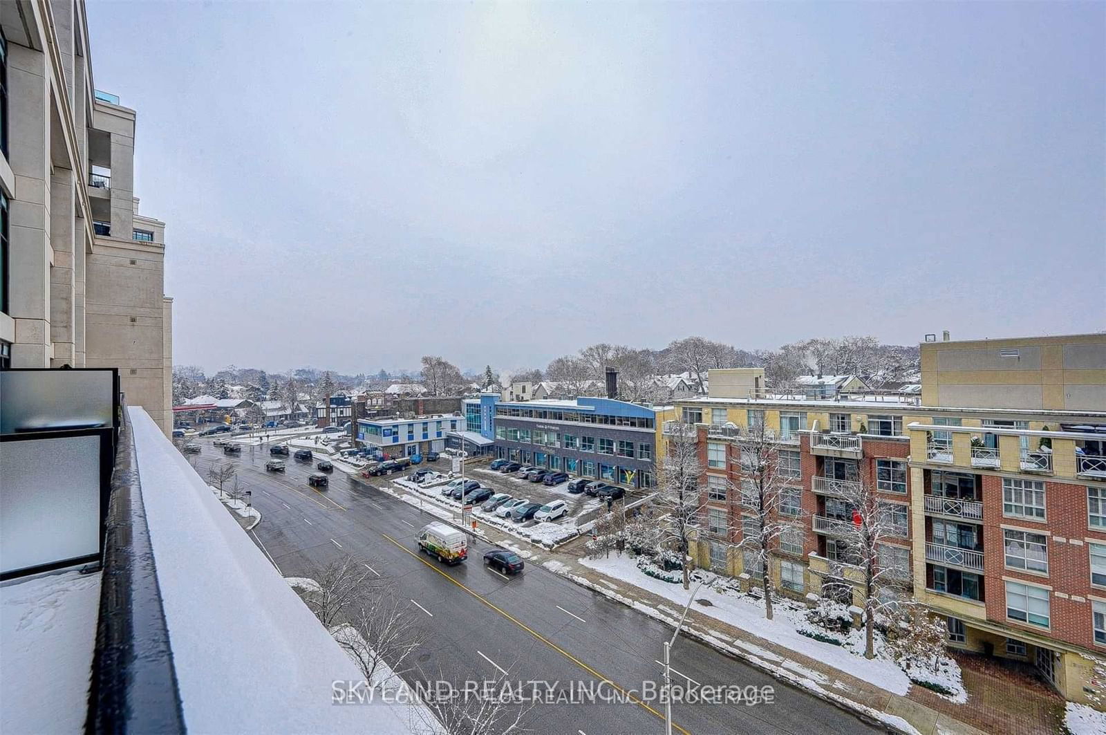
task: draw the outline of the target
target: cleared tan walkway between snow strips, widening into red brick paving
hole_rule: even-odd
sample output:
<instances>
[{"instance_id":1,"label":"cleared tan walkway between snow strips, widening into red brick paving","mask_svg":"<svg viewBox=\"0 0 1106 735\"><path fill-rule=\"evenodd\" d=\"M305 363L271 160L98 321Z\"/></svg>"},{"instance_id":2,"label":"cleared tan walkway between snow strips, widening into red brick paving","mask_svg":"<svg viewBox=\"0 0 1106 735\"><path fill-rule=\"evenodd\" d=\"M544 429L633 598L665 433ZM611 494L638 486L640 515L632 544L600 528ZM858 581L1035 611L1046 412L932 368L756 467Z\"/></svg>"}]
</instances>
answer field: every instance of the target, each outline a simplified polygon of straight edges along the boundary
<instances>
[{"instance_id":1,"label":"cleared tan walkway between snow strips, widening into red brick paving","mask_svg":"<svg viewBox=\"0 0 1106 735\"><path fill-rule=\"evenodd\" d=\"M626 580L612 579L580 563L584 539L577 539L556 551L534 551L538 562L555 559L571 568L573 574L583 577L597 587L599 580L615 582L618 593L650 607L671 607L666 598L629 586ZM924 735L963 733L1003 733L1016 735L1051 735L1061 731L1064 701L1051 690L1021 672L995 671L993 664L980 656L958 655L968 691L966 704L953 704L921 686L911 686L906 696L891 694L874 684L845 674L820 661L804 656L791 649L734 628L716 618L691 609L688 625L721 631L737 640L768 649L828 677L826 690L836 691L857 704L896 715L906 720Z\"/></svg>"}]
</instances>

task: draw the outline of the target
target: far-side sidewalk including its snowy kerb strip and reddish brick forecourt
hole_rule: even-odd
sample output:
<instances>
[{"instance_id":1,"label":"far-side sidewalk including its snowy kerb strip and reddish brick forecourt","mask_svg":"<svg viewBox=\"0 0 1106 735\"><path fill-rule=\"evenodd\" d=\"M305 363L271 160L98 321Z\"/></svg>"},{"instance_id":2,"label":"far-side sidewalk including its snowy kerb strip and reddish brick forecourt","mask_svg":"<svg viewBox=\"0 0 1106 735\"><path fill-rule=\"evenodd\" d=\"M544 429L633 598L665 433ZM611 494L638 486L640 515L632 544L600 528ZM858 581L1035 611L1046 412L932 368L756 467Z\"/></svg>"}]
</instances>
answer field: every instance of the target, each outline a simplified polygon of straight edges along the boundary
<instances>
[{"instance_id":1,"label":"far-side sidewalk including its snowy kerb strip and reddish brick forecourt","mask_svg":"<svg viewBox=\"0 0 1106 735\"><path fill-rule=\"evenodd\" d=\"M578 555L582 550L583 540L577 540L556 551L541 555L543 558L535 560L552 571L573 578L574 581L626 604L634 605L636 602L643 608L653 610L672 607L667 598L633 587L625 579L608 578L581 565ZM538 557L539 553L535 552L534 556ZM551 560L555 563L549 563ZM886 724L906 732L911 732L910 728L922 735L946 733L1045 735L1061 732L1060 726L1064 718L1062 697L1041 685L1027 683L1020 676L1002 676L982 671L970 660L971 656L968 656L968 660L958 658L969 696L966 704L954 704L917 685L911 686L905 696L894 694L821 661L707 615L695 608L689 611L685 628L692 636L714 648L719 648L720 638L722 641L726 640L718 635L722 633L734 643L733 646L723 643L727 652L750 661L780 679L812 691L822 698L860 710L862 713L870 710L866 714L881 718ZM745 646L744 651L741 650L742 643ZM772 658L781 659L783 663L775 665L765 661L763 655L751 654L750 649L771 652L774 654ZM795 672L804 671L815 672L817 675L796 676ZM812 681L813 679L817 681ZM898 718L901 718L901 722L896 722Z\"/></svg>"}]
</instances>

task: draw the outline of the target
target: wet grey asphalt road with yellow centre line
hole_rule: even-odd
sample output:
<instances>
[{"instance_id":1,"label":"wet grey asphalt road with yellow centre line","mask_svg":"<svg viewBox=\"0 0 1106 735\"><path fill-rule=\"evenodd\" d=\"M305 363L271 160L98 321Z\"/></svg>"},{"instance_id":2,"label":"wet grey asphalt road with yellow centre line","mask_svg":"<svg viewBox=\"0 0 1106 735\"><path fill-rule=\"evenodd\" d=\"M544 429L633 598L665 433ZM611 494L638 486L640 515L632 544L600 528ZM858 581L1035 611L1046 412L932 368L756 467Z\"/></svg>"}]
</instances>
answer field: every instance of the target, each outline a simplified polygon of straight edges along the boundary
<instances>
[{"instance_id":1,"label":"wet grey asphalt road with yellow centre line","mask_svg":"<svg viewBox=\"0 0 1106 735\"><path fill-rule=\"evenodd\" d=\"M436 520L345 473L331 474L326 490L307 486L314 463L286 458L283 474L267 473L268 446L243 447L225 457L210 439L197 439L201 475L212 460L239 469L263 515L251 537L285 577L316 577L328 562L355 555L372 571L396 579L410 614L428 639L417 652L416 680L550 682L567 697L570 683L613 682L607 692L625 703L539 703L523 728L539 733L664 732L664 705L643 702L646 682L659 691L662 642L671 629L572 581L529 565L505 578L482 565L483 541L469 546L469 560L445 567L418 552L417 530ZM317 457L316 457L317 460ZM541 555L544 556L544 555ZM851 714L790 687L748 664L681 638L672 649L674 683L774 689L774 702L672 705L678 733L860 733L878 732ZM555 683L555 684L554 684ZM576 684L578 686L578 684ZM629 693L628 695L626 693Z\"/></svg>"}]
</instances>

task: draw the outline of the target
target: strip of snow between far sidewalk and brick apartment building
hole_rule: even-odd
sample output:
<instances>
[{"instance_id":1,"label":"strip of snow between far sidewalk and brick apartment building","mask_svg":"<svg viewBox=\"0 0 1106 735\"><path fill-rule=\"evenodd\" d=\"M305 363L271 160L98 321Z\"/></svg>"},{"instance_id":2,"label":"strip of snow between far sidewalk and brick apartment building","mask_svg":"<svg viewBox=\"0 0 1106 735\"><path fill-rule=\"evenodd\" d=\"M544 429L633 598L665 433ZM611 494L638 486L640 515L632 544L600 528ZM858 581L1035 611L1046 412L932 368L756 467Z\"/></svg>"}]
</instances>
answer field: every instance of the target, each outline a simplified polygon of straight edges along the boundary
<instances>
[{"instance_id":1,"label":"strip of snow between far sidewalk and brick apartment building","mask_svg":"<svg viewBox=\"0 0 1106 735\"><path fill-rule=\"evenodd\" d=\"M581 559L581 563L603 574L671 600L680 608L687 603L687 592L684 591L682 586L664 582L644 574L628 556L608 559ZM821 643L805 635L800 635L795 629L806 622L802 617L802 610L776 604L774 608L775 619L765 620L763 605L749 598L724 594L703 587L696 594L696 599L706 599L711 603L710 605L696 605L695 609L701 614L716 618L758 638L802 653L814 661L820 661L895 694L906 694L910 687L910 680L893 661L886 659L868 661L849 653L839 645ZM768 652L765 651L765 653Z\"/></svg>"}]
</instances>

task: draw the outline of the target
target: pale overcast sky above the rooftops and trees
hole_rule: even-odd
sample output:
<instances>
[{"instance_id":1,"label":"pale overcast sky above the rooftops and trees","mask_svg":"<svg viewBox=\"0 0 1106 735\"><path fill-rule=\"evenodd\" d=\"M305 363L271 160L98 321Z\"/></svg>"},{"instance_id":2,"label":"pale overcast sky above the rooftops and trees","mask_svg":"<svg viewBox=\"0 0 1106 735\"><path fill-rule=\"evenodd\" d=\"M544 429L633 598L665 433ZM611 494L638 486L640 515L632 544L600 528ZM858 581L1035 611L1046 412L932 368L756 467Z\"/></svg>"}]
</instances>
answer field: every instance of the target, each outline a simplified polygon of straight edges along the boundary
<instances>
[{"instance_id":1,"label":"pale overcast sky above the rooftops and trees","mask_svg":"<svg viewBox=\"0 0 1106 735\"><path fill-rule=\"evenodd\" d=\"M88 4L174 360L1106 329L1106 4Z\"/></svg>"}]
</instances>

